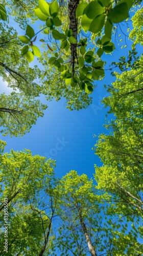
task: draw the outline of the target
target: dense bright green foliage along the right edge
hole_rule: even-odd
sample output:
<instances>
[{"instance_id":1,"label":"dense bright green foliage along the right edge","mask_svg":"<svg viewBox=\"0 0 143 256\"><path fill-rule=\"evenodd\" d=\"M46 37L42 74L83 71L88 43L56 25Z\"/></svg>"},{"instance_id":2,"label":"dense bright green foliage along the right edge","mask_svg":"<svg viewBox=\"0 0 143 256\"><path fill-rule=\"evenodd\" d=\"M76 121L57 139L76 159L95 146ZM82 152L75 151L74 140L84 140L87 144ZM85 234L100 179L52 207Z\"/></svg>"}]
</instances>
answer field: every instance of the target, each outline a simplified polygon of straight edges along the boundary
<instances>
[{"instance_id":1,"label":"dense bright green foliage along the right edge","mask_svg":"<svg viewBox=\"0 0 143 256\"><path fill-rule=\"evenodd\" d=\"M137 68L135 68L137 66ZM97 188L112 195L112 211L136 222L139 238L143 209L143 116L142 116L142 56L132 63L131 70L115 73L116 81L108 87L110 95L103 99L116 119L106 124L110 135L101 134L95 145L103 166L96 169ZM114 208L114 206L116 208ZM134 234L136 236L136 234ZM137 249L137 247L135 247ZM139 246L136 253L142 254Z\"/></svg>"}]
</instances>

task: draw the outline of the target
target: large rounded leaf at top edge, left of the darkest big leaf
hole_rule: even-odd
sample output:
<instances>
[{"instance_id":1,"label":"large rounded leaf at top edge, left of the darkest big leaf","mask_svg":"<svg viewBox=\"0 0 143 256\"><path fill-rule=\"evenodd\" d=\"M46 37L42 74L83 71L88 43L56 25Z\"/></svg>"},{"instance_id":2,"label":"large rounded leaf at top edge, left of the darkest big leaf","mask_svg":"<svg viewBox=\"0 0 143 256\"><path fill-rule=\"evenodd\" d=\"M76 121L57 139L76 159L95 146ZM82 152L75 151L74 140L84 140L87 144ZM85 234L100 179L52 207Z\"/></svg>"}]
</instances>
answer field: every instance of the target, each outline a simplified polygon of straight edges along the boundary
<instances>
[{"instance_id":1,"label":"large rounded leaf at top edge, left of the darkest big leaf","mask_svg":"<svg viewBox=\"0 0 143 256\"><path fill-rule=\"evenodd\" d=\"M90 19L94 19L97 16L103 14L105 12L105 8L102 7L98 1L90 2L87 7L84 9L84 14Z\"/></svg>"}]
</instances>

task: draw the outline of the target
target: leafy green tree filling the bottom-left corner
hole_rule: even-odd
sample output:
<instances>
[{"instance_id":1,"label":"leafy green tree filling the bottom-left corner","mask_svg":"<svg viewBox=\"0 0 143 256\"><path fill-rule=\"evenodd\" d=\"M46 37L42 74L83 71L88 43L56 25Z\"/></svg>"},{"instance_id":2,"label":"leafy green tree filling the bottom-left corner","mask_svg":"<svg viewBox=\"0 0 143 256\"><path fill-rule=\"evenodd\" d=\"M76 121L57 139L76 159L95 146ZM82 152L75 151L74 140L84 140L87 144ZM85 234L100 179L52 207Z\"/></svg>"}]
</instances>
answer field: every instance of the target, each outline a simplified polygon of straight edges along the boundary
<instances>
[{"instance_id":1,"label":"leafy green tree filling the bottom-left corner","mask_svg":"<svg viewBox=\"0 0 143 256\"><path fill-rule=\"evenodd\" d=\"M5 143L1 141L1 144ZM34 256L41 250L51 217L45 214L47 202L45 204L44 199L39 199L54 178L53 167L54 160L32 156L29 150L11 150L10 154L4 153L1 156L1 227L4 225L4 199L7 198L9 255L20 253L19 255ZM1 255L6 254L3 246L4 235L3 230Z\"/></svg>"}]
</instances>

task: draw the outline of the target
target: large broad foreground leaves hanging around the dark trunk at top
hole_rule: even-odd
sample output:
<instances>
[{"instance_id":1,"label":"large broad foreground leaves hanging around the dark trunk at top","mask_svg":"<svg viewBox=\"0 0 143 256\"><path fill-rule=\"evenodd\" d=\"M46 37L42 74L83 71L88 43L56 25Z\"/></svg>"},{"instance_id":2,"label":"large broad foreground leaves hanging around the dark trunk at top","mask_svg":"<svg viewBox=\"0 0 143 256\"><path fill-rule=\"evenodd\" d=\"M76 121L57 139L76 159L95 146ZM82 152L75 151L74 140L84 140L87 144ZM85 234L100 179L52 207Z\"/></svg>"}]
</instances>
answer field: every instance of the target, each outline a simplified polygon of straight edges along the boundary
<instances>
[{"instance_id":1,"label":"large broad foreground leaves hanging around the dark trunk at top","mask_svg":"<svg viewBox=\"0 0 143 256\"><path fill-rule=\"evenodd\" d=\"M71 28L62 31L62 22L57 16L59 12L57 1L51 4L46 3L44 0L38 1L38 8L34 9L34 12L40 20L46 23L47 28L44 28L43 32L45 34L52 33L56 41L60 40L61 51L64 50L67 53L67 60L64 55L59 56L57 52L55 56L49 59L49 65L53 65L59 71L59 79L61 78L65 81L65 86L78 87L79 90L84 90L87 94L92 93L94 80L98 80L104 76L104 62L98 60L98 58L101 57L103 52L110 53L115 49L114 44L110 41L112 25L113 23L120 23L129 17L128 11L132 4L132 0L122 0L113 7L109 0L101 0L92 1L89 4L82 2L78 5L75 19L81 17L81 27L85 32L98 33L102 31L105 25L105 35L101 39L98 39L97 45L99 45L99 50L95 53L94 51L87 51L87 38L80 39L78 42L73 36L73 30ZM60 27L59 31L55 27ZM31 33L27 32L29 29ZM34 37L36 34L34 34L30 26L27 27L26 35L29 38L27 36L19 36L19 38L22 42L30 42L32 52L29 51L29 46L25 46L21 49L21 54L25 55L27 60L31 62L34 55L40 57L40 52L38 48L35 48L36 46L33 46L33 41L36 40L36 37ZM32 37L34 39L31 41ZM44 39L42 40L44 41ZM76 66L74 60L72 58L70 60L69 58L68 51L71 45L79 47ZM65 62L69 62L69 64L65 64Z\"/></svg>"}]
</instances>

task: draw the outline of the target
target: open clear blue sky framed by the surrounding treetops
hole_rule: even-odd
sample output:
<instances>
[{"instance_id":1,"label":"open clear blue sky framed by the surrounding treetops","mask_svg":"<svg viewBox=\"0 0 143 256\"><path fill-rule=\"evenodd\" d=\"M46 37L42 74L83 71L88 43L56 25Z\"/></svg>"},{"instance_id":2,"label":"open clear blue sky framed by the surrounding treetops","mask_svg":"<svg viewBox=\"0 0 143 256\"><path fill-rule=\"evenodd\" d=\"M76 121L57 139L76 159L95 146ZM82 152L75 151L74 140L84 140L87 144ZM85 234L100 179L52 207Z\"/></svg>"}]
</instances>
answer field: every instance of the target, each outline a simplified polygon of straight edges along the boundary
<instances>
[{"instance_id":1,"label":"open clear blue sky framed by the surrounding treetops","mask_svg":"<svg viewBox=\"0 0 143 256\"><path fill-rule=\"evenodd\" d=\"M17 30L20 31L18 26ZM18 33L21 35L21 31ZM105 69L108 69L112 61L117 61L119 56L127 55L127 48L121 50L122 45L124 42L121 42L120 46L117 46L116 43L116 49L112 55L103 54L102 60L108 63ZM35 62L32 62L33 66L34 64ZM27 148L32 151L33 155L38 154L56 160L55 173L58 177L75 169L78 174L85 173L91 178L94 173L94 164L98 166L102 164L92 150L96 143L96 138L93 138L93 135L107 133L103 127L107 109L104 109L101 103L103 97L108 95L104 84L110 84L114 80L115 77L110 75L110 71L105 71L105 78L97 82L98 86L92 93L92 104L86 110L69 111L64 106L65 99L61 99L59 102L55 100L47 102L42 95L40 97L42 103L49 107L44 112L44 116L38 118L30 133L22 138L0 135L0 139L7 142L5 152L9 152L11 148L14 151ZM7 89L6 83L1 84L0 92L9 93L10 89Z\"/></svg>"}]
</instances>

